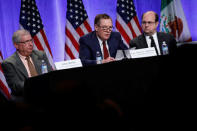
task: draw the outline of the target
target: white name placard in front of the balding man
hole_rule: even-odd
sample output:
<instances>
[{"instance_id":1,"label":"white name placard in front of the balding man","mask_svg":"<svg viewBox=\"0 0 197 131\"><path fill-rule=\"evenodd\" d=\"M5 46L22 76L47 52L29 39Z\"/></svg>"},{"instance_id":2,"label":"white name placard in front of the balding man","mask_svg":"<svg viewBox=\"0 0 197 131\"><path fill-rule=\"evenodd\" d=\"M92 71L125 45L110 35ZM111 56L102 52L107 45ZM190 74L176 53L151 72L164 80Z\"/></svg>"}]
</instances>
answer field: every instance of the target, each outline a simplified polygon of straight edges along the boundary
<instances>
[{"instance_id":1,"label":"white name placard in front of the balding man","mask_svg":"<svg viewBox=\"0 0 197 131\"><path fill-rule=\"evenodd\" d=\"M154 47L130 50L131 58L142 58L156 56L156 51Z\"/></svg>"}]
</instances>

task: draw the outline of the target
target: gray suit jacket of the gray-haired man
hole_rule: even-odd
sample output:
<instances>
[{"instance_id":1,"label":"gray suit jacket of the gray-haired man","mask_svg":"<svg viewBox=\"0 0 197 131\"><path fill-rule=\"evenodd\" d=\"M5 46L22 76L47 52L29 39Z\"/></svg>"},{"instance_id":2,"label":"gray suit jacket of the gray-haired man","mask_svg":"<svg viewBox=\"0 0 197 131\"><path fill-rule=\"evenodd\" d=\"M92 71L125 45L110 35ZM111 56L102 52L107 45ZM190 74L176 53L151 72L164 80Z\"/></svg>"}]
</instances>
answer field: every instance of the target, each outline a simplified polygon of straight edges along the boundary
<instances>
[{"instance_id":1,"label":"gray suit jacket of the gray-haired man","mask_svg":"<svg viewBox=\"0 0 197 131\"><path fill-rule=\"evenodd\" d=\"M52 71L46 54L43 51L33 50L30 55L38 74L41 73L41 64L44 60L48 71ZM2 68L9 87L12 90L12 96L21 97L23 95L24 82L28 78L27 70L21 61L17 52L2 62Z\"/></svg>"}]
</instances>

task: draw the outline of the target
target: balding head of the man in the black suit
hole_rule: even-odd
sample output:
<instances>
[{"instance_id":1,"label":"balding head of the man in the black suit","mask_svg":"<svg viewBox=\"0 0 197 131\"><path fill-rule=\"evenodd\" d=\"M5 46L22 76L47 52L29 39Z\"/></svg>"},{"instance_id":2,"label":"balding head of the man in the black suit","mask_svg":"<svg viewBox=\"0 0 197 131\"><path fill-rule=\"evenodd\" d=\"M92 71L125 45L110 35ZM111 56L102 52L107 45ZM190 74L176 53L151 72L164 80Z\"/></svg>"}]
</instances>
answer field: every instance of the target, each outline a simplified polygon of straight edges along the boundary
<instances>
[{"instance_id":1,"label":"balding head of the man in the black suit","mask_svg":"<svg viewBox=\"0 0 197 131\"><path fill-rule=\"evenodd\" d=\"M147 11L142 15L142 29L146 35L153 35L157 32L159 16L154 11Z\"/></svg>"}]
</instances>

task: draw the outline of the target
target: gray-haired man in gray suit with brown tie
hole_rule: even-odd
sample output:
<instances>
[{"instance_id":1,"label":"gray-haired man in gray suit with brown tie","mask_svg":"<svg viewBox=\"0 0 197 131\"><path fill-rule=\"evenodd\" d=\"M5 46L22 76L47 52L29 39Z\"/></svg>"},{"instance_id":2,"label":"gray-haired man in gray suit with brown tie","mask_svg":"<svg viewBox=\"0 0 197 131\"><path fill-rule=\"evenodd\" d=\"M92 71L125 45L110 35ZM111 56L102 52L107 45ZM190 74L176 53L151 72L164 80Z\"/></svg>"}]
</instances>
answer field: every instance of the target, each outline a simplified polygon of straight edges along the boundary
<instances>
[{"instance_id":1,"label":"gray-haired man in gray suit with brown tie","mask_svg":"<svg viewBox=\"0 0 197 131\"><path fill-rule=\"evenodd\" d=\"M24 82L29 77L42 74L42 60L47 64L48 71L52 71L52 67L43 51L33 50L33 39L27 30L22 29L14 32L12 41L16 52L2 62L2 68L6 81L12 90L12 99L23 101ZM31 67L27 58L30 60Z\"/></svg>"}]
</instances>

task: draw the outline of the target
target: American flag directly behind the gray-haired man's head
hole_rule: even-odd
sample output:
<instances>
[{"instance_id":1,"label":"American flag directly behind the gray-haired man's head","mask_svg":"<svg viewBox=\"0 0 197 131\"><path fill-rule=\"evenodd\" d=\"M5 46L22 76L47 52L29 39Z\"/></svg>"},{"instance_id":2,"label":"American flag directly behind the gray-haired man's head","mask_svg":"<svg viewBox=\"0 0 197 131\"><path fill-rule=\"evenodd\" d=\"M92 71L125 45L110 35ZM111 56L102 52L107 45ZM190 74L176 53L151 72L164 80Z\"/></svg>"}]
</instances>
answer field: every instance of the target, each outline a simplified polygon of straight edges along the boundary
<instances>
[{"instance_id":1,"label":"American flag directly behind the gray-haired man's head","mask_svg":"<svg viewBox=\"0 0 197 131\"><path fill-rule=\"evenodd\" d=\"M35 0L21 0L20 25L22 29L31 33L34 39L34 49L45 51L54 68L53 56Z\"/></svg>"}]
</instances>

